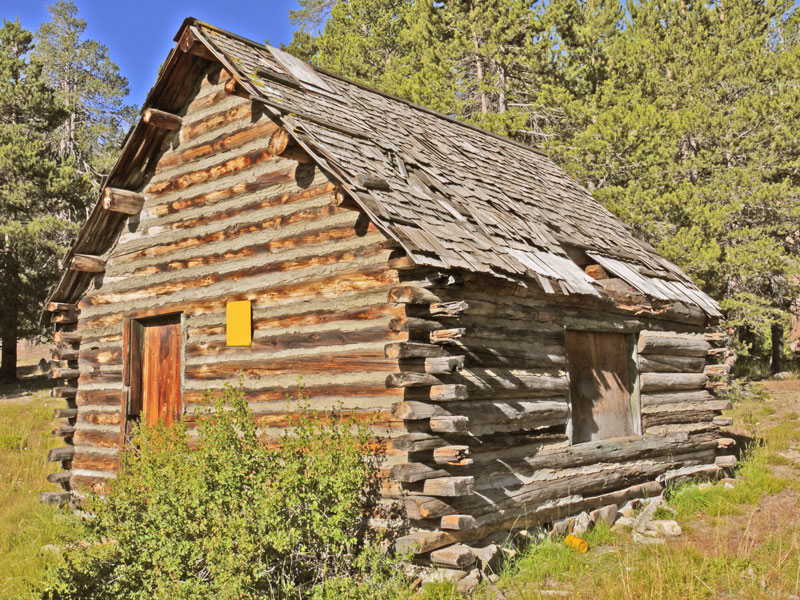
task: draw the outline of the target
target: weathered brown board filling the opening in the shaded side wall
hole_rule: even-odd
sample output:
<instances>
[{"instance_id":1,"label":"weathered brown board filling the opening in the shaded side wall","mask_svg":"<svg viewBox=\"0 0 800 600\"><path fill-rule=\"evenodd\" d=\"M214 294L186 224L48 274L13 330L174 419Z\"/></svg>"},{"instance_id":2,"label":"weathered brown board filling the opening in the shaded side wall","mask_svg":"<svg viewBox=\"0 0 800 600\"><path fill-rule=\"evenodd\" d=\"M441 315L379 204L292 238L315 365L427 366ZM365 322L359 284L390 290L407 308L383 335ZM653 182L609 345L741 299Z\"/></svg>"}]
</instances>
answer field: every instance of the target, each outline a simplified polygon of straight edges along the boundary
<instances>
[{"instance_id":1,"label":"weathered brown board filling the opening in the shaded side wall","mask_svg":"<svg viewBox=\"0 0 800 600\"><path fill-rule=\"evenodd\" d=\"M624 334L567 331L573 443L636 433L631 352Z\"/></svg>"}]
</instances>

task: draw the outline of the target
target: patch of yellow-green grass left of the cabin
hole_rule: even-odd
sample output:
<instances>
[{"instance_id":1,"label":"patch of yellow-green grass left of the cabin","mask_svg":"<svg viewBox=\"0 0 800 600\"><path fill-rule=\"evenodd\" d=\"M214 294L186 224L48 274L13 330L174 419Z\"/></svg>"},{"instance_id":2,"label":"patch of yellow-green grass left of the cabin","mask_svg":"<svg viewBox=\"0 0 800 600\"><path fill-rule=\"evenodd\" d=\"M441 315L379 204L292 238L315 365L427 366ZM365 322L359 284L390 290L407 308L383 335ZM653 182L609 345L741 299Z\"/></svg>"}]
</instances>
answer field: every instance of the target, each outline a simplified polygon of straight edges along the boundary
<instances>
[{"instance_id":1,"label":"patch of yellow-green grass left of the cabin","mask_svg":"<svg viewBox=\"0 0 800 600\"><path fill-rule=\"evenodd\" d=\"M42 550L62 542L69 520L57 509L39 504L39 492L57 489L46 481L58 465L47 463L47 451L61 442L50 431L54 407L43 392L29 392L24 403L9 401L37 383L0 389L0 600L38 597L31 589L56 556Z\"/></svg>"}]
</instances>

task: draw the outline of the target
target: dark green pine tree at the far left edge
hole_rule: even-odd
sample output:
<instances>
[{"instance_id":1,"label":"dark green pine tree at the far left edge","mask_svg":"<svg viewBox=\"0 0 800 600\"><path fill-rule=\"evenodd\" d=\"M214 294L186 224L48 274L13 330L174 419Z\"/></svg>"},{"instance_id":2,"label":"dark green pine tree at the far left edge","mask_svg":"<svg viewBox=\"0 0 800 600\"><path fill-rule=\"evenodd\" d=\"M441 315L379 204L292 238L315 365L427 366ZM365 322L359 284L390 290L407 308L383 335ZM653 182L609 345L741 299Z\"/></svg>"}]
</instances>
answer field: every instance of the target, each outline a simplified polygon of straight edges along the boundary
<instances>
[{"instance_id":1,"label":"dark green pine tree at the far left edge","mask_svg":"<svg viewBox=\"0 0 800 600\"><path fill-rule=\"evenodd\" d=\"M16 378L17 339L38 333L48 286L58 276L88 192L60 165L46 138L65 111L31 58L33 35L19 21L0 29L0 380Z\"/></svg>"}]
</instances>

